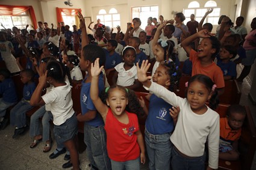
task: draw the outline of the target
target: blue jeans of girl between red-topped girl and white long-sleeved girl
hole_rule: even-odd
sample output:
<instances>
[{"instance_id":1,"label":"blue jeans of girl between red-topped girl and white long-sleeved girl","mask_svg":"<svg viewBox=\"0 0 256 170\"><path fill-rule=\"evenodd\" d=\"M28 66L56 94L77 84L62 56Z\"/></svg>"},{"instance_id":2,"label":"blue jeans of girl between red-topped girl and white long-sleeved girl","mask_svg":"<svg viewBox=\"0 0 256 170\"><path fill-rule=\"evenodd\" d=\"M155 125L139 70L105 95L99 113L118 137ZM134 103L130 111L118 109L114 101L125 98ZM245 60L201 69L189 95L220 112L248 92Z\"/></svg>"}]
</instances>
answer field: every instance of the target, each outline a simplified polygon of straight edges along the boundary
<instances>
[{"instance_id":1,"label":"blue jeans of girl between red-topped girl and white long-sleeved girl","mask_svg":"<svg viewBox=\"0 0 256 170\"><path fill-rule=\"evenodd\" d=\"M149 169L170 169L170 142L172 133L152 135L145 130L146 151L149 159Z\"/></svg>"}]
</instances>

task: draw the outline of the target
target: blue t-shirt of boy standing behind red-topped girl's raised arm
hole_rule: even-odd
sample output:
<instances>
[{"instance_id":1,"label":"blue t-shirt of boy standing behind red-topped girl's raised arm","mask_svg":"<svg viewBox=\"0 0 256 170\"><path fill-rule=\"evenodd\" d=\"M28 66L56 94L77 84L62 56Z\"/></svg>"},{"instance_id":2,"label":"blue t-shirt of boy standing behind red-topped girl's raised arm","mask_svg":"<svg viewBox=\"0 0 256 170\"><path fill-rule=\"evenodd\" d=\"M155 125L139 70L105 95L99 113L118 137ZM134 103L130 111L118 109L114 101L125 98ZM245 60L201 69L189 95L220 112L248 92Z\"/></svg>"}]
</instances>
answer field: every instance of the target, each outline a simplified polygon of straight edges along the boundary
<instances>
[{"instance_id":1,"label":"blue t-shirt of boy standing behind red-topped girl's raised arm","mask_svg":"<svg viewBox=\"0 0 256 170\"><path fill-rule=\"evenodd\" d=\"M84 80L87 79L87 76ZM80 93L80 103L81 103L81 111L82 115L86 114L89 110L96 111L95 106L93 105L92 99L90 97L90 87L91 83L82 82L82 89ZM104 79L103 74L101 73L99 76L99 93L104 90ZM97 112L96 117L93 120L86 121L84 124L89 124L90 126L97 127L104 125L104 121L102 120L101 115Z\"/></svg>"}]
</instances>

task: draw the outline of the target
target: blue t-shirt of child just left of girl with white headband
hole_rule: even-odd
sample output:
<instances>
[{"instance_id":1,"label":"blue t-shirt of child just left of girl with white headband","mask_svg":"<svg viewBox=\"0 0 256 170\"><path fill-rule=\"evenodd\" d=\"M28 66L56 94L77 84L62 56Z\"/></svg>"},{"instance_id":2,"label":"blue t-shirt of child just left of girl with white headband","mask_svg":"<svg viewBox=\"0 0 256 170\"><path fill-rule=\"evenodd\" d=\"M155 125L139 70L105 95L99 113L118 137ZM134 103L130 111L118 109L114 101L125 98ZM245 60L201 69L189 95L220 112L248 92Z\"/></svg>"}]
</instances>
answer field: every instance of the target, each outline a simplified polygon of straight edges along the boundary
<instances>
[{"instance_id":1,"label":"blue t-shirt of child just left of girl with white headband","mask_svg":"<svg viewBox=\"0 0 256 170\"><path fill-rule=\"evenodd\" d=\"M106 54L105 69L114 68L117 64L122 62L122 58L118 53L114 52L113 55L110 55L106 49L104 49L104 52Z\"/></svg>"}]
</instances>

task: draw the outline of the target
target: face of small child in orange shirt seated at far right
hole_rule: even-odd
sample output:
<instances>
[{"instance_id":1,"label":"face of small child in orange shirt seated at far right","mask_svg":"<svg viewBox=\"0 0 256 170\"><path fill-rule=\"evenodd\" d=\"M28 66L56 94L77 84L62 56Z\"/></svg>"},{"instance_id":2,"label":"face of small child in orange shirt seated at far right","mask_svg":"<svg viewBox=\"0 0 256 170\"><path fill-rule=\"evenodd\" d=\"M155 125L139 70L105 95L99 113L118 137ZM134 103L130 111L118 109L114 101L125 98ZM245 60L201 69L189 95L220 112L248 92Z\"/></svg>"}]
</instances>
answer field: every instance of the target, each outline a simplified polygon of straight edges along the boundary
<instances>
[{"instance_id":1,"label":"face of small child in orange shirt seated at far right","mask_svg":"<svg viewBox=\"0 0 256 170\"><path fill-rule=\"evenodd\" d=\"M237 130L243 126L243 121L245 120L245 115L234 112L228 117L228 124L231 129Z\"/></svg>"}]
</instances>

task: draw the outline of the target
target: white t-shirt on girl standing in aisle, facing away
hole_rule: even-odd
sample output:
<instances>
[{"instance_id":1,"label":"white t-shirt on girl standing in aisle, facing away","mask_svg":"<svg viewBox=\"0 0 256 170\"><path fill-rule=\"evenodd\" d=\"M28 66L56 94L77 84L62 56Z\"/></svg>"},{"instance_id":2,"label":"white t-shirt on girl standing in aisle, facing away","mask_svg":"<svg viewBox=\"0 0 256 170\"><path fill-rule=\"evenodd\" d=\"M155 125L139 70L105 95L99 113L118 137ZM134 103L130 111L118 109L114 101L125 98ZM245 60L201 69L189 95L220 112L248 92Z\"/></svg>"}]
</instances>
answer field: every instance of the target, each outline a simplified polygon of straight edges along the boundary
<instances>
[{"instance_id":1,"label":"white t-shirt on girl standing in aisle, facing away","mask_svg":"<svg viewBox=\"0 0 256 170\"><path fill-rule=\"evenodd\" d=\"M49 104L54 117L54 124L59 126L74 114L73 101L71 99L71 87L69 83L52 88L49 93L42 96L45 104Z\"/></svg>"}]
</instances>

